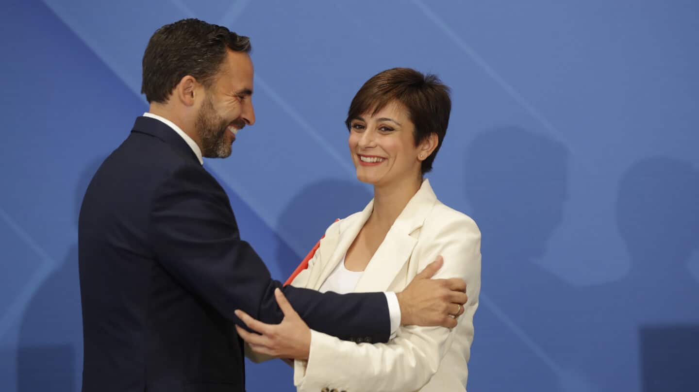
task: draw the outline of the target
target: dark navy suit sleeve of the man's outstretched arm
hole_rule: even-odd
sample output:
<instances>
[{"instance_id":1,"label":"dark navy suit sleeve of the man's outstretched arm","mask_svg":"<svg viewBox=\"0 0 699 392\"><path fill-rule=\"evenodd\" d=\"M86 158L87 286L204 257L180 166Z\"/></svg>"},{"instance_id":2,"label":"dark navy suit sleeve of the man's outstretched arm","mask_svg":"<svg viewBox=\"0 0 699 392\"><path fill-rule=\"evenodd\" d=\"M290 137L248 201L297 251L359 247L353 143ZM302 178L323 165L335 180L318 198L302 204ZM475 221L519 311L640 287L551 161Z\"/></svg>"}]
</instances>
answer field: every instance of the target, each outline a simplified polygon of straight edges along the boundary
<instances>
[{"instance_id":1,"label":"dark navy suit sleeve of the man's outstretched arm","mask_svg":"<svg viewBox=\"0 0 699 392\"><path fill-rule=\"evenodd\" d=\"M174 170L152 200L148 235L156 259L189 291L243 326L240 309L267 324L283 314L274 289L317 331L354 340L387 342L389 310L384 293L319 293L272 280L250 244L240 240L228 197L201 167Z\"/></svg>"}]
</instances>

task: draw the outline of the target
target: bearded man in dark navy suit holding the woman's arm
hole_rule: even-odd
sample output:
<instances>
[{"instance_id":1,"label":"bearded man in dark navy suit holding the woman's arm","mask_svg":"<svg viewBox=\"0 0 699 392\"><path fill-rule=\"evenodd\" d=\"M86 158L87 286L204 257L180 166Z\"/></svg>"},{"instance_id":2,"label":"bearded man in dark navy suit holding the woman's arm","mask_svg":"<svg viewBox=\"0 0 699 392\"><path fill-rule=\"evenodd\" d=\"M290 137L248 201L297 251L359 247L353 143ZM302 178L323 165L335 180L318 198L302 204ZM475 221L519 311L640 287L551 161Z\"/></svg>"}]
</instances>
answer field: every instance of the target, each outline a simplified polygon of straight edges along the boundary
<instances>
[{"instance_id":1,"label":"bearded man in dark navy suit holding the woman's arm","mask_svg":"<svg viewBox=\"0 0 699 392\"><path fill-rule=\"evenodd\" d=\"M80 210L85 392L244 391L234 311L282 321L281 284L240 240L202 166L228 157L254 124L249 51L247 37L199 20L161 27L148 43L149 112L97 170ZM416 279L397 294L282 290L310 328L386 342L400 324L454 326L464 289Z\"/></svg>"}]
</instances>

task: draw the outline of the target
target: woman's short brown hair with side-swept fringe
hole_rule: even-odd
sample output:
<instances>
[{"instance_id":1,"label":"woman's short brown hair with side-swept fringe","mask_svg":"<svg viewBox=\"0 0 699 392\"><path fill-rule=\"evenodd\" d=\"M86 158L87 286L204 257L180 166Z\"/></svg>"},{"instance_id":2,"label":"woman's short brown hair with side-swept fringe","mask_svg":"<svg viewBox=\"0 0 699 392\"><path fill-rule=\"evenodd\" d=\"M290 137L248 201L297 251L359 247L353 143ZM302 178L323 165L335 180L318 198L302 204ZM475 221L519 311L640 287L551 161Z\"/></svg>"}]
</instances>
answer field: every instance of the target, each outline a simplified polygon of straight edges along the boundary
<instances>
[{"instance_id":1,"label":"woman's short brown hair with side-swept fringe","mask_svg":"<svg viewBox=\"0 0 699 392\"><path fill-rule=\"evenodd\" d=\"M415 125L415 145L419 145L431 133L437 134L437 147L422 161L421 173L427 173L432 170L432 163L447 133L449 113L452 111L449 87L436 75L423 75L411 68L391 68L377 73L364 83L352 99L345 120L347 129L352 119L369 110L373 110L375 115L393 101L408 109L410 121Z\"/></svg>"}]
</instances>

